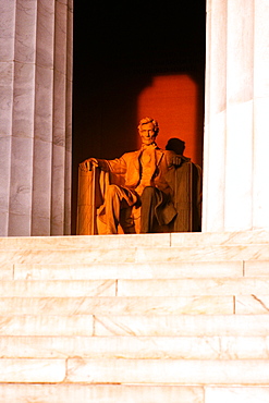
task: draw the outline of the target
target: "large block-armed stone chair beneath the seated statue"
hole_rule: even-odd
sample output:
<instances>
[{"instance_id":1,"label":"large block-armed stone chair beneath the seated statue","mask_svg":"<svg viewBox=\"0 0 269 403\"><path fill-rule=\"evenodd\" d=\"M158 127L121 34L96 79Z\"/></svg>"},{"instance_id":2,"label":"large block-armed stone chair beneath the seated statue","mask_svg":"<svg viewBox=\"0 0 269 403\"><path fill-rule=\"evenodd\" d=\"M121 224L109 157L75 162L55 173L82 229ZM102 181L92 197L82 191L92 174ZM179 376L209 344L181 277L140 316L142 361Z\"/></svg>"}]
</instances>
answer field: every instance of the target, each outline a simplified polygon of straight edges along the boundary
<instances>
[{"instance_id":1,"label":"large block-armed stone chair beneath the seated statue","mask_svg":"<svg viewBox=\"0 0 269 403\"><path fill-rule=\"evenodd\" d=\"M172 202L178 215L168 225L156 223L154 232L200 231L200 167L186 161L167 180L173 191ZM103 172L95 167L87 172L78 169L77 235L106 234L100 212L109 184L124 185L124 175ZM139 212L140 208L135 206L122 209L118 233L139 233Z\"/></svg>"}]
</instances>

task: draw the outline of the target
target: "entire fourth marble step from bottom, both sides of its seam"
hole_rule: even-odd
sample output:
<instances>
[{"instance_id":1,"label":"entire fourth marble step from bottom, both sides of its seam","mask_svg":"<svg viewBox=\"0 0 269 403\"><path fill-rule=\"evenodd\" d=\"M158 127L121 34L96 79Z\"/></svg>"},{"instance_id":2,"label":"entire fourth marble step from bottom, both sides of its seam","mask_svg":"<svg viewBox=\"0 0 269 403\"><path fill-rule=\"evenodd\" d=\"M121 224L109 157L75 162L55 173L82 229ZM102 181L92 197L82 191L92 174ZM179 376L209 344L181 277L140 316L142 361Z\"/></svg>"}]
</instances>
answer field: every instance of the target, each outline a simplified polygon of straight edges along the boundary
<instances>
[{"instance_id":1,"label":"entire fourth marble step from bottom, both sides of its seam","mask_svg":"<svg viewBox=\"0 0 269 403\"><path fill-rule=\"evenodd\" d=\"M265 315L4 315L1 337L268 337Z\"/></svg>"}]
</instances>

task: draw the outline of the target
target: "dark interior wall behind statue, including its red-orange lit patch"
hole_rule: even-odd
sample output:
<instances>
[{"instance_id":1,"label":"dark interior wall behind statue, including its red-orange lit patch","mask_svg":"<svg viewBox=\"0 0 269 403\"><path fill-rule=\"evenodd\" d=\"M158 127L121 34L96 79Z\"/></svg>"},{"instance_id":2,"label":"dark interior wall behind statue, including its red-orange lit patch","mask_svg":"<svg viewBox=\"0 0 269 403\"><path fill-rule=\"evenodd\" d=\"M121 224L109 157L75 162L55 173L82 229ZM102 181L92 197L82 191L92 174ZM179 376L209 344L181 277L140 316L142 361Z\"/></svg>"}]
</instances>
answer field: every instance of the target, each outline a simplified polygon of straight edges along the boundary
<instances>
[{"instance_id":1,"label":"dark interior wall behind statue, including its red-orange lit patch","mask_svg":"<svg viewBox=\"0 0 269 403\"><path fill-rule=\"evenodd\" d=\"M185 141L203 164L206 0L75 1L73 208L77 166L139 147L137 123L159 121L158 144Z\"/></svg>"}]
</instances>

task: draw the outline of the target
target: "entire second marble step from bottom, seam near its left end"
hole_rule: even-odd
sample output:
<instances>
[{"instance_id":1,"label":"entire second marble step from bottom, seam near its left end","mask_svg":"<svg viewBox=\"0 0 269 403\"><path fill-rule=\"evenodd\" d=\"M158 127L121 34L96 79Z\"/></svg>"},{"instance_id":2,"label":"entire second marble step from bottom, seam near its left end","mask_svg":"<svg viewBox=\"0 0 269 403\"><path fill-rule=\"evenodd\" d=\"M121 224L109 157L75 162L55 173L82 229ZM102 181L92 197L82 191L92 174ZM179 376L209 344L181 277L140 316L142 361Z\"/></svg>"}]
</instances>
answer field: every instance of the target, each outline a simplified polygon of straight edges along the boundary
<instances>
[{"instance_id":1,"label":"entire second marble step from bottom, seam near its left end","mask_svg":"<svg viewBox=\"0 0 269 403\"><path fill-rule=\"evenodd\" d=\"M268 386L268 359L1 358L0 382Z\"/></svg>"}]
</instances>

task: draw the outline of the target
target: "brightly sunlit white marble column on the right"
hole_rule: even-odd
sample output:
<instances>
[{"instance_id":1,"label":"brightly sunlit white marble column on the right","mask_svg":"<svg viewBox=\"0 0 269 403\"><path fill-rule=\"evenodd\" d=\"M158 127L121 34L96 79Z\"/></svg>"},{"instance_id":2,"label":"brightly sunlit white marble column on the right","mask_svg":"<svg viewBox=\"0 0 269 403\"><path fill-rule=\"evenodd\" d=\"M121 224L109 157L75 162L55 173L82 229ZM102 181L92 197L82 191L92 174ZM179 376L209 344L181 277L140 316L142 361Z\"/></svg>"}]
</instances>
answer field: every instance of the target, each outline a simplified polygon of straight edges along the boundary
<instances>
[{"instance_id":1,"label":"brightly sunlit white marble column on the right","mask_svg":"<svg viewBox=\"0 0 269 403\"><path fill-rule=\"evenodd\" d=\"M207 0L203 231L269 229L268 21L268 0Z\"/></svg>"}]
</instances>

